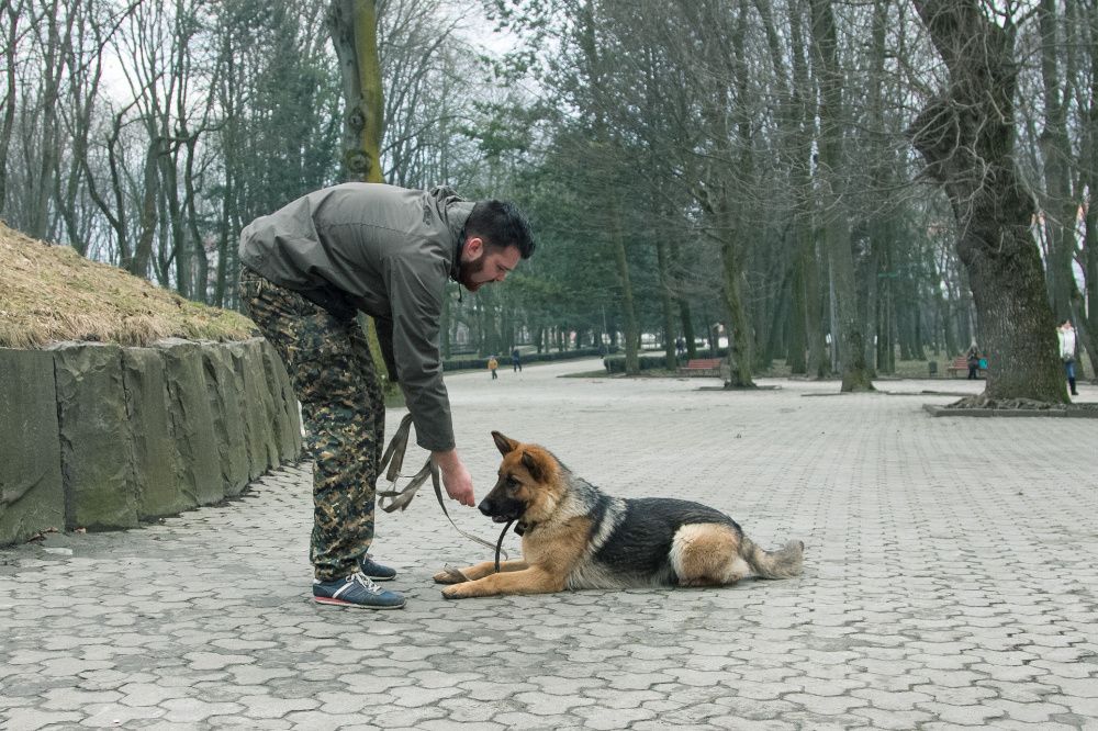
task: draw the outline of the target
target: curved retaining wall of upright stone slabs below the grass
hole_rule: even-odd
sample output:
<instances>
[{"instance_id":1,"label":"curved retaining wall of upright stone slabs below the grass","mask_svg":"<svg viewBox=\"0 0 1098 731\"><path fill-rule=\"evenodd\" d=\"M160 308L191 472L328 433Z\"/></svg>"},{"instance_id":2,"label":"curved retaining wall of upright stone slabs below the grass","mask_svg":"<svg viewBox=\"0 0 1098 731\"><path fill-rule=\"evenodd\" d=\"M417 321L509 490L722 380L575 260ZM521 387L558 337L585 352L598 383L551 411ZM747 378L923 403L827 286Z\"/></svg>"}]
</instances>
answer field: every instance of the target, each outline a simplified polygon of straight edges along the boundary
<instances>
[{"instance_id":1,"label":"curved retaining wall of upright stone slabs below the grass","mask_svg":"<svg viewBox=\"0 0 1098 731\"><path fill-rule=\"evenodd\" d=\"M0 348L0 546L217 503L301 447L289 379L261 338Z\"/></svg>"}]
</instances>

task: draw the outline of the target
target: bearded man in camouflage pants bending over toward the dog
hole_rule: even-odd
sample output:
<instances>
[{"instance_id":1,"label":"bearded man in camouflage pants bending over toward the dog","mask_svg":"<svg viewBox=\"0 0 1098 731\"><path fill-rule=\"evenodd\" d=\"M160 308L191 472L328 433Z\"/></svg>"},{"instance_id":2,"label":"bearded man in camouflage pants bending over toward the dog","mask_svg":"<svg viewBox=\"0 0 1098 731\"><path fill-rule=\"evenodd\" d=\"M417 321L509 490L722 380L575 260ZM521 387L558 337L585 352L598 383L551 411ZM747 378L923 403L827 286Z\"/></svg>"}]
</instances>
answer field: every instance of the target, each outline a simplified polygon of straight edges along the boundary
<instances>
[{"instance_id":1,"label":"bearded man in camouflage pants bending over toward the dog","mask_svg":"<svg viewBox=\"0 0 1098 731\"><path fill-rule=\"evenodd\" d=\"M444 290L448 279L472 292L502 282L533 252L529 224L513 204L474 204L447 188L335 185L240 234L242 301L285 363L309 434L315 601L404 606L402 595L374 583L396 572L367 553L385 412L357 313L374 318L390 378L447 494L471 506L442 383Z\"/></svg>"}]
</instances>

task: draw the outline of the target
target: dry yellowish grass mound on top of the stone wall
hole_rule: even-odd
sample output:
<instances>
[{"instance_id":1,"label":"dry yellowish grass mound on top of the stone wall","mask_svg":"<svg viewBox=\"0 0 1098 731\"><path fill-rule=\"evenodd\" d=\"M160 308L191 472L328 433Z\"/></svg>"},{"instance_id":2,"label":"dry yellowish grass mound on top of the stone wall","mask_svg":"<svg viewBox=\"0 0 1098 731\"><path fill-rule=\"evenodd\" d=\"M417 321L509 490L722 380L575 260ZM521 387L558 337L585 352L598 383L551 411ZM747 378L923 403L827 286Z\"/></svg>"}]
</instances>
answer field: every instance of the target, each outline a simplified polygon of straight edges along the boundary
<instances>
[{"instance_id":1,"label":"dry yellowish grass mound on top of the stone wall","mask_svg":"<svg viewBox=\"0 0 1098 731\"><path fill-rule=\"evenodd\" d=\"M255 334L239 313L190 302L0 223L0 347L58 340L146 346L166 337L243 340Z\"/></svg>"}]
</instances>

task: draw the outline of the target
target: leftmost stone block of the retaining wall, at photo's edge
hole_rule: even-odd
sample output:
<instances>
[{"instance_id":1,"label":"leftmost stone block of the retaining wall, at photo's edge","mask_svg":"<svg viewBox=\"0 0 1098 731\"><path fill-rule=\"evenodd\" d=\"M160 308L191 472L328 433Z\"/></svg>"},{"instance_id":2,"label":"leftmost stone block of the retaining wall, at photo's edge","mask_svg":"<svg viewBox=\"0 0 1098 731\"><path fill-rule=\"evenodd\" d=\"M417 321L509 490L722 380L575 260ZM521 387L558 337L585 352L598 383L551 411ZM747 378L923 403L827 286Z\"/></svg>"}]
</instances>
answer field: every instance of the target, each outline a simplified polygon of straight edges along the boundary
<instances>
[{"instance_id":1,"label":"leftmost stone block of the retaining wall, at photo's edge","mask_svg":"<svg viewBox=\"0 0 1098 731\"><path fill-rule=\"evenodd\" d=\"M65 527L54 358L0 348L0 546Z\"/></svg>"}]
</instances>

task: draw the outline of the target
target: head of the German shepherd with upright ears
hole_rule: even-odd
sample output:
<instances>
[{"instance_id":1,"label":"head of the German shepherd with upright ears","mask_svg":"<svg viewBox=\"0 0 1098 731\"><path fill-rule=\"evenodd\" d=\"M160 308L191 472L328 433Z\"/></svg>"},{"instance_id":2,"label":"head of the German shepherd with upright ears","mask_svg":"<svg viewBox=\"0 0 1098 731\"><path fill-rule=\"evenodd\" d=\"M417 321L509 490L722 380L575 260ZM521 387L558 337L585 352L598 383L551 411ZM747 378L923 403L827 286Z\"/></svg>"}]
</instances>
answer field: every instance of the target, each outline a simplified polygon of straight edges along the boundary
<instances>
[{"instance_id":1,"label":"head of the German shepherd with upright ears","mask_svg":"<svg viewBox=\"0 0 1098 731\"><path fill-rule=\"evenodd\" d=\"M495 522L540 522L552 515L562 488L560 463L545 449L524 445L492 432L503 454L500 479L481 504L480 511Z\"/></svg>"}]
</instances>

